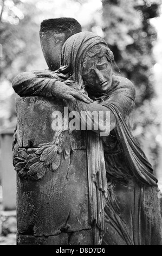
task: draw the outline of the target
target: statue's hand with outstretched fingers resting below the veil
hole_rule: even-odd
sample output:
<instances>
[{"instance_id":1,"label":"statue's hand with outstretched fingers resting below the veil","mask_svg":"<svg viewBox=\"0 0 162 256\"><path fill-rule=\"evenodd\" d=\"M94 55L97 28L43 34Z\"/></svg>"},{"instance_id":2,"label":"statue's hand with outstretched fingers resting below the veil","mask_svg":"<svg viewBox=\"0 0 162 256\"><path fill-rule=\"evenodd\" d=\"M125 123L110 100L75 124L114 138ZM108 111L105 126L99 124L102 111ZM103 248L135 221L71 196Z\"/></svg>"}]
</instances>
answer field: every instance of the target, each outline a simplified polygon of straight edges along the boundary
<instances>
[{"instance_id":1,"label":"statue's hand with outstretched fingers resting below the veil","mask_svg":"<svg viewBox=\"0 0 162 256\"><path fill-rule=\"evenodd\" d=\"M59 99L72 101L75 105L76 99L81 100L86 103L93 102L86 94L76 90L72 87L67 86L65 83L61 81L55 81L55 84L51 90L51 94Z\"/></svg>"}]
</instances>

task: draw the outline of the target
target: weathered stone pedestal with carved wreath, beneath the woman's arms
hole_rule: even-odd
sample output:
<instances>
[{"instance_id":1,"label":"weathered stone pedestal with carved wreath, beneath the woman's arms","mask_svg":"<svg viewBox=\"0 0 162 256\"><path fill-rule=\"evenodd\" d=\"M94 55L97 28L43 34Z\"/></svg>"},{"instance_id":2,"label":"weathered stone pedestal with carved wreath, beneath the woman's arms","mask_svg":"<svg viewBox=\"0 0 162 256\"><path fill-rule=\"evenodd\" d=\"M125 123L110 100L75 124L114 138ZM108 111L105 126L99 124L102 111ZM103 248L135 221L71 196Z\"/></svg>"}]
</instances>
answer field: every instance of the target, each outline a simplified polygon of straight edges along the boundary
<instances>
[{"instance_id":1,"label":"weathered stone pedestal with carved wreath, beneath the woman's arms","mask_svg":"<svg viewBox=\"0 0 162 256\"><path fill-rule=\"evenodd\" d=\"M58 137L53 112L63 107L42 97L17 100L18 245L97 245L102 236L102 144L94 132Z\"/></svg>"}]
</instances>

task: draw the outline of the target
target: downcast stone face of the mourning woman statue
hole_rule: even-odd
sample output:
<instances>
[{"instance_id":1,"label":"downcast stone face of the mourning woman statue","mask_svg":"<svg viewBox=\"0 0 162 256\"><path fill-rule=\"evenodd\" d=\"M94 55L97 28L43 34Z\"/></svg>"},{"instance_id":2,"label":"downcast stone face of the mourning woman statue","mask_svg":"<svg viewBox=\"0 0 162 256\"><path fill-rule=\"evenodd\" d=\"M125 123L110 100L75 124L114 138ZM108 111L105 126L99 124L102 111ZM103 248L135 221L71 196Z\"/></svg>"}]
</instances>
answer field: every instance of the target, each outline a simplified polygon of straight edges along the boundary
<instances>
[{"instance_id":1,"label":"downcast stone face of the mourning woman statue","mask_svg":"<svg viewBox=\"0 0 162 256\"><path fill-rule=\"evenodd\" d=\"M102 51L86 58L82 78L91 91L106 92L111 87L112 75L112 65Z\"/></svg>"}]
</instances>

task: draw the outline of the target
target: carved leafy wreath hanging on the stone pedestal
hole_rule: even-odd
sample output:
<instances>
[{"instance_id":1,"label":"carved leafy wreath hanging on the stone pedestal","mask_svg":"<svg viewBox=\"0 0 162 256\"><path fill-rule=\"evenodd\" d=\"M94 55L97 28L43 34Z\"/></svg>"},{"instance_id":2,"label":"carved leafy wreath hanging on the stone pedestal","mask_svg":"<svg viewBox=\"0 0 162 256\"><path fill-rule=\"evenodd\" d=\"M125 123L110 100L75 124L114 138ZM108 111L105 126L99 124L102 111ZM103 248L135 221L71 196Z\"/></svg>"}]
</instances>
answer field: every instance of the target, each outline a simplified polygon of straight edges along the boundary
<instances>
[{"instance_id":1,"label":"carved leafy wreath hanging on the stone pedestal","mask_svg":"<svg viewBox=\"0 0 162 256\"><path fill-rule=\"evenodd\" d=\"M62 157L67 159L71 150L75 149L75 141L69 131L57 132L54 144L43 144L37 149L19 148L14 157L15 170L23 179L42 179L47 168L54 172L60 164Z\"/></svg>"}]
</instances>

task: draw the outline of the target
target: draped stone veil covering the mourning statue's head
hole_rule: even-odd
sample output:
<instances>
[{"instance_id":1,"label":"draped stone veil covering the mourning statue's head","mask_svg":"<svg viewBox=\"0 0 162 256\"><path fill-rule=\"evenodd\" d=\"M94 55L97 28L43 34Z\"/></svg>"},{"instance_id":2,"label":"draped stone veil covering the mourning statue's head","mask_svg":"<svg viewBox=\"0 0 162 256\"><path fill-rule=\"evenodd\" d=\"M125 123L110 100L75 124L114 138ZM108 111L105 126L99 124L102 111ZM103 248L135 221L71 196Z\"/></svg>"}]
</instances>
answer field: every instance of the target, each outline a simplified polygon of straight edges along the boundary
<instances>
[{"instance_id":1,"label":"draped stone veil covering the mourning statue's head","mask_svg":"<svg viewBox=\"0 0 162 256\"><path fill-rule=\"evenodd\" d=\"M83 88L83 62L90 48L99 44L106 46L105 55L112 62L114 60L113 53L108 48L105 40L100 36L92 32L80 32L70 36L62 47L61 67L57 72L69 74L68 82L70 83L71 81L73 84L79 84L80 88Z\"/></svg>"}]
</instances>

